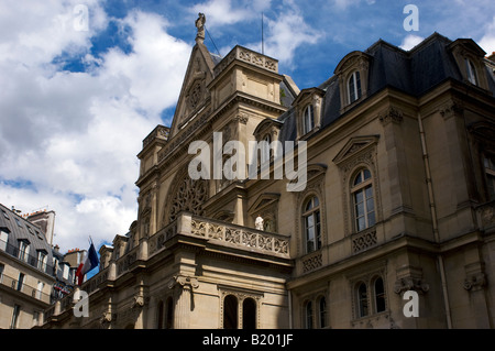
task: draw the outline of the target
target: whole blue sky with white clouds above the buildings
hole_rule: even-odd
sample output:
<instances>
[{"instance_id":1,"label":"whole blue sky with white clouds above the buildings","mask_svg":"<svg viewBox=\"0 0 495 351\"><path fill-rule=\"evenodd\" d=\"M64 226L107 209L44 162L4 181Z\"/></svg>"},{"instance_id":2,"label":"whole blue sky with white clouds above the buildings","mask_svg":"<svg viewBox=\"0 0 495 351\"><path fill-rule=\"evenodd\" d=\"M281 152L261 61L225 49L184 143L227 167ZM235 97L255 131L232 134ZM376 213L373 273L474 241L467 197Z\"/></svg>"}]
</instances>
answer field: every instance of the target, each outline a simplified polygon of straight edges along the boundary
<instances>
[{"instance_id":1,"label":"whole blue sky with white clouds above the buildings","mask_svg":"<svg viewBox=\"0 0 495 351\"><path fill-rule=\"evenodd\" d=\"M409 3L418 31L404 28ZM63 252L136 219L136 154L170 125L198 12L221 55L261 51L263 13L265 54L299 88L380 39L408 50L437 31L495 51L493 0L1 0L0 202L54 210Z\"/></svg>"}]
</instances>

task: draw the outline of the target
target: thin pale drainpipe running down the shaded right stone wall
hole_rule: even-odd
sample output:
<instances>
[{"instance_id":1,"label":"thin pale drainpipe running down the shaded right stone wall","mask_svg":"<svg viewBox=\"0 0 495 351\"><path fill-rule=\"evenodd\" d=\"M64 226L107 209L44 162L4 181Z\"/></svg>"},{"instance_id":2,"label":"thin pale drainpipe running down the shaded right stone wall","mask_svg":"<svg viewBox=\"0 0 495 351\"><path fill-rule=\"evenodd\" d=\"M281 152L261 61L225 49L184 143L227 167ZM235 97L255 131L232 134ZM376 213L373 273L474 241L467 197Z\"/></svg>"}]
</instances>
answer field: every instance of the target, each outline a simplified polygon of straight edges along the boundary
<instances>
[{"instance_id":1,"label":"thin pale drainpipe running down the shaded right stone wall","mask_svg":"<svg viewBox=\"0 0 495 351\"><path fill-rule=\"evenodd\" d=\"M427 150L427 144L426 144L425 130L422 127L422 119L421 119L421 114L419 112L418 112L418 124L419 124L419 135L421 139L422 160L425 162L425 173L426 173L426 180L427 180L427 186L428 186L428 198L429 198L429 202L430 202L430 212L431 212L431 222L433 226L435 242L440 243L440 235L438 232L437 208L436 208L435 196L433 196L433 184L431 182L430 163L429 163L428 150ZM440 270L440 279L442 283L443 303L444 303L446 317L447 317L447 328L452 329L449 294L447 290L446 268L443 265L442 255L438 254L437 260L438 260L438 266Z\"/></svg>"}]
</instances>

